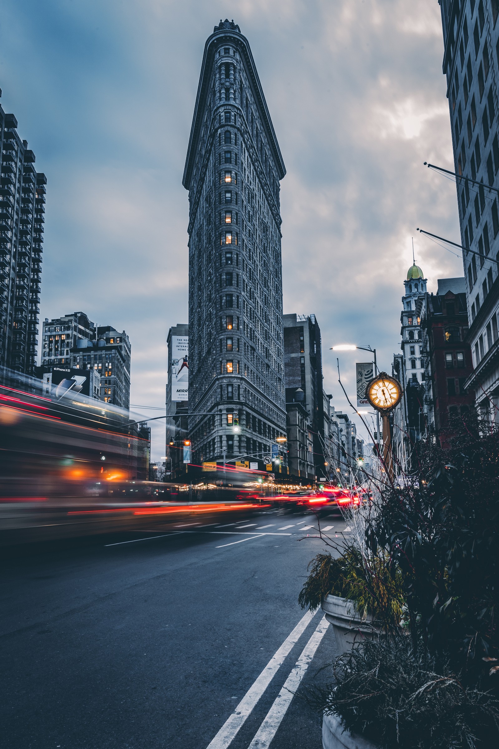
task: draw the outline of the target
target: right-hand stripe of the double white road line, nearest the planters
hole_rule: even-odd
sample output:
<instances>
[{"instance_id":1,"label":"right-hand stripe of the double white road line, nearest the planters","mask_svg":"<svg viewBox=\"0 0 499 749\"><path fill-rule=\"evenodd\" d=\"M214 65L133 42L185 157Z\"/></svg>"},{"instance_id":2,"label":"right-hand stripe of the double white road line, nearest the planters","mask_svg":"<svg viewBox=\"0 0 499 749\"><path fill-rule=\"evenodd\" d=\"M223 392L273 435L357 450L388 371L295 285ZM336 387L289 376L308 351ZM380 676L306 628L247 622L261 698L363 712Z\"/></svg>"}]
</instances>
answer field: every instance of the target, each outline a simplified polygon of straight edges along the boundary
<instances>
[{"instance_id":1,"label":"right-hand stripe of the double white road line, nearest the planters","mask_svg":"<svg viewBox=\"0 0 499 749\"><path fill-rule=\"evenodd\" d=\"M284 715L286 715L287 709L291 704L291 700L293 700L293 697L295 696L296 690L301 684L301 679L303 679L307 672L307 668L310 666L312 658L316 653L316 649L319 647L328 626L329 622L327 622L325 616L323 616L316 631L304 646L298 661L296 661L296 666L284 682L283 688L275 698L274 704L267 713L263 724L257 730L257 734L248 749L268 749L278 727L281 725Z\"/></svg>"}]
</instances>

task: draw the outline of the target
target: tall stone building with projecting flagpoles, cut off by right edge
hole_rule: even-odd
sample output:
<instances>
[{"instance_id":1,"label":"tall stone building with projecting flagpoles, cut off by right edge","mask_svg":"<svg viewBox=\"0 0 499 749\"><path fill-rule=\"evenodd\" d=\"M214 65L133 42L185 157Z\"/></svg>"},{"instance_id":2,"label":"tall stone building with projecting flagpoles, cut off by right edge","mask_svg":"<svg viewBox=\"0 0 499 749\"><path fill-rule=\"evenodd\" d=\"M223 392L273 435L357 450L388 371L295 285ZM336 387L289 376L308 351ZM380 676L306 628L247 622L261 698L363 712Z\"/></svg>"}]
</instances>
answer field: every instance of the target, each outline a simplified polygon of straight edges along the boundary
<instances>
[{"instance_id":1,"label":"tall stone building with projecting flagpoles, cut off by right edge","mask_svg":"<svg viewBox=\"0 0 499 749\"><path fill-rule=\"evenodd\" d=\"M478 410L499 420L499 1L438 0ZM489 189L492 187L493 189Z\"/></svg>"}]
</instances>

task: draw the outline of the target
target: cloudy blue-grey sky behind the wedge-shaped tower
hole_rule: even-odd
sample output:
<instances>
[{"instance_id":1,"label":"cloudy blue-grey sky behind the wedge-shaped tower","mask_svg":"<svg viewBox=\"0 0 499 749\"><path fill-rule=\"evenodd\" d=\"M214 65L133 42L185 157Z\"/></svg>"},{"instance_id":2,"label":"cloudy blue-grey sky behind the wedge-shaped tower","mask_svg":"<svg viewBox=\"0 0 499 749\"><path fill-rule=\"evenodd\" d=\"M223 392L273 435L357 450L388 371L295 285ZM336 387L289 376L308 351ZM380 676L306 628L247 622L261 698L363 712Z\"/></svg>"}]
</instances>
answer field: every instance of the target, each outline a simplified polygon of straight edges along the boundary
<instances>
[{"instance_id":1,"label":"cloudy blue-grey sky behind the wedge-shaped tower","mask_svg":"<svg viewBox=\"0 0 499 749\"><path fill-rule=\"evenodd\" d=\"M206 37L248 37L287 175L284 312L315 313L338 410L338 342L399 351L403 279L462 261L437 0L2 0L0 100L47 177L40 319L82 309L132 343L132 404L165 402L166 336L188 321L182 187ZM358 352L361 354L361 352ZM342 379L355 394L355 359ZM153 413L148 411L147 413ZM153 459L165 427L153 422Z\"/></svg>"}]
</instances>

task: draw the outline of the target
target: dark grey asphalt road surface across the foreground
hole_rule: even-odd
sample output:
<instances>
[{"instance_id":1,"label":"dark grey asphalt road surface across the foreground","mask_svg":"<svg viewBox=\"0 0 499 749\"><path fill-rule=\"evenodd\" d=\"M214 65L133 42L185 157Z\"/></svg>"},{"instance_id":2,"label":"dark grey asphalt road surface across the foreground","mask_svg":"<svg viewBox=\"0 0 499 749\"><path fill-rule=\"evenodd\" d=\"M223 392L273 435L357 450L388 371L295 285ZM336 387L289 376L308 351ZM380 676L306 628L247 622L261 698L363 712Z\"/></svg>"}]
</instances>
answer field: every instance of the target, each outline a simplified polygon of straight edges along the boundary
<instances>
[{"instance_id":1,"label":"dark grey asphalt road surface across the foreground","mask_svg":"<svg viewBox=\"0 0 499 749\"><path fill-rule=\"evenodd\" d=\"M297 603L307 563L324 548L314 527L301 530L316 520L267 510L230 521L9 550L2 747L319 749L321 717L301 695L330 678L316 672L336 643L322 613L308 621ZM321 526L334 537L345 523ZM266 686L260 674L276 652ZM235 732L241 701L248 717Z\"/></svg>"}]
</instances>

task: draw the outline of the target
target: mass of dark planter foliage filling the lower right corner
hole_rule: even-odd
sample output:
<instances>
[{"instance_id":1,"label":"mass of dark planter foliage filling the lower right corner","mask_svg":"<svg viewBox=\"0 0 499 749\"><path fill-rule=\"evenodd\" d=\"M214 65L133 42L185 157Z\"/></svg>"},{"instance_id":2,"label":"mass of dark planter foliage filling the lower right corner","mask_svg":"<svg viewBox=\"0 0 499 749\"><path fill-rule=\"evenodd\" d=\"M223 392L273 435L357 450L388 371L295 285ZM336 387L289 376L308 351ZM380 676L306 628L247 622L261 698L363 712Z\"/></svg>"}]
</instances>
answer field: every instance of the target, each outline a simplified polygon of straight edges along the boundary
<instances>
[{"instance_id":1,"label":"mass of dark planter foliage filling the lower right corner","mask_svg":"<svg viewBox=\"0 0 499 749\"><path fill-rule=\"evenodd\" d=\"M472 416L451 429L410 476L374 477L362 532L310 562L302 606L348 599L380 633L310 693L327 749L499 746L499 434Z\"/></svg>"}]
</instances>

